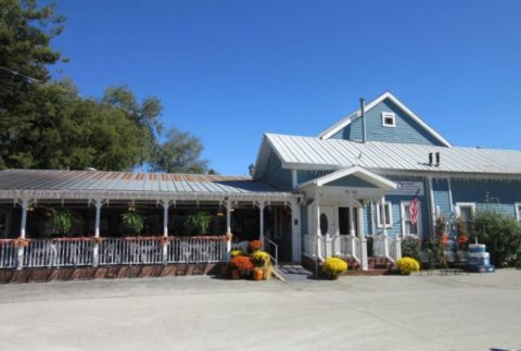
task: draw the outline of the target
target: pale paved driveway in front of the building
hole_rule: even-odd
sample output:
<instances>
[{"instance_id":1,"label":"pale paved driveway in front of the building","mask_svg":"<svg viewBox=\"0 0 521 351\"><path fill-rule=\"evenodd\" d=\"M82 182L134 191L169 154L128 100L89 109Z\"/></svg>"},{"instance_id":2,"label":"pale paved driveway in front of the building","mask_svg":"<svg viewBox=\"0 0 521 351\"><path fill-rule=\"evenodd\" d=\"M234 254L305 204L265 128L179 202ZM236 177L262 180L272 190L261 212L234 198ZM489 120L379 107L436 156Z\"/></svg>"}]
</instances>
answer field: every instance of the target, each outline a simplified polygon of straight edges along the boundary
<instances>
[{"instance_id":1,"label":"pale paved driveway in front of the building","mask_svg":"<svg viewBox=\"0 0 521 351\"><path fill-rule=\"evenodd\" d=\"M0 286L1 350L521 350L521 271Z\"/></svg>"}]
</instances>

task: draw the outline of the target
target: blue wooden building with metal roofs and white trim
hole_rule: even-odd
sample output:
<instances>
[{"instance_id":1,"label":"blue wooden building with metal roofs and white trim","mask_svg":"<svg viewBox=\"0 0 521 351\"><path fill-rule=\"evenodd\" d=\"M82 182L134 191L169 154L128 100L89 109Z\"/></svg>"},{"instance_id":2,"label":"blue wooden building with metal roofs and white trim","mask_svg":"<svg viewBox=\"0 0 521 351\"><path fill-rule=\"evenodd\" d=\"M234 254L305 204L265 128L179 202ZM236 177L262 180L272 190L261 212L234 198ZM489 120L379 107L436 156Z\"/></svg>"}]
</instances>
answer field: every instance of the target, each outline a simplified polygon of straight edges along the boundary
<instances>
[{"instance_id":1,"label":"blue wooden building with metal roofs and white trim","mask_svg":"<svg viewBox=\"0 0 521 351\"><path fill-rule=\"evenodd\" d=\"M397 260L403 238L432 236L441 215L469 221L488 206L521 221L521 151L454 147L385 92L316 137L264 135L252 178L10 170L0 172L0 202L4 238L45 231L45 215L28 215L35 205L77 209L79 234L103 236L114 234L118 205L142 204L165 237L202 206L214 234L258 237L282 261L339 255L368 269L370 258Z\"/></svg>"}]
</instances>

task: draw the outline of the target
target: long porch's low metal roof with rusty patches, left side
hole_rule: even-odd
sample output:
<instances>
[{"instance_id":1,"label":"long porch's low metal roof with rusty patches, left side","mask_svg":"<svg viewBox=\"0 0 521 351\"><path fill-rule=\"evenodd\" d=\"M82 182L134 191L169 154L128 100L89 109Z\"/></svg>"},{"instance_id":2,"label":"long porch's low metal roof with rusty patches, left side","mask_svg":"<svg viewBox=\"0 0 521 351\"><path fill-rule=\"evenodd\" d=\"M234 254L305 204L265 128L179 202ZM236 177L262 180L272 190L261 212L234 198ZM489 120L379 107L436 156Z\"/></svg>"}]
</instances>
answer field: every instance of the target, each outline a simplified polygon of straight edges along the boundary
<instances>
[{"instance_id":1,"label":"long porch's low metal roof with rusty patches, left side","mask_svg":"<svg viewBox=\"0 0 521 351\"><path fill-rule=\"evenodd\" d=\"M0 198L287 198L265 183L243 176L98 171L7 170Z\"/></svg>"}]
</instances>

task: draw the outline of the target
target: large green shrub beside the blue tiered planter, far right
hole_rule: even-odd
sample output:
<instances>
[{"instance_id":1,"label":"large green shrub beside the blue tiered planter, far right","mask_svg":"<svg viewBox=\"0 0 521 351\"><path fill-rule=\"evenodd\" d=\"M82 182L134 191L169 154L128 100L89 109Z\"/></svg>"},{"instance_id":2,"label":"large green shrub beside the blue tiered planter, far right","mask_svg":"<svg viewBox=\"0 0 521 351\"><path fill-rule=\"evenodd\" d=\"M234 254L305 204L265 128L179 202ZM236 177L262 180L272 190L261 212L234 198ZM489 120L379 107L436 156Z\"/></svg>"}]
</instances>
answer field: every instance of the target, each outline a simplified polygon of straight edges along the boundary
<instances>
[{"instance_id":1,"label":"large green shrub beside the blue tiered planter, far right","mask_svg":"<svg viewBox=\"0 0 521 351\"><path fill-rule=\"evenodd\" d=\"M478 212L473 228L478 240L486 245L493 264L498 267L516 264L521 252L521 225L514 217L493 211Z\"/></svg>"}]
</instances>

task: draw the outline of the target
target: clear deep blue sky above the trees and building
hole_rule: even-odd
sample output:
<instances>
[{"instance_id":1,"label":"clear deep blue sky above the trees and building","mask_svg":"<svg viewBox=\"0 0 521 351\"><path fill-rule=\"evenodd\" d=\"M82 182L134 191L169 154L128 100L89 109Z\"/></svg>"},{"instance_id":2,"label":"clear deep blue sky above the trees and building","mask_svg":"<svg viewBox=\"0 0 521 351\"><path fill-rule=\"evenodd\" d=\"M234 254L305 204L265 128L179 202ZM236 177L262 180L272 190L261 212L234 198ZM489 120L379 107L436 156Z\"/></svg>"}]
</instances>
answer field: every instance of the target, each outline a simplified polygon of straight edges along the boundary
<instances>
[{"instance_id":1,"label":"clear deep blue sky above the trees and building","mask_svg":"<svg viewBox=\"0 0 521 351\"><path fill-rule=\"evenodd\" d=\"M81 95L127 84L247 174L265 131L315 136L390 90L456 146L521 149L521 1L58 0Z\"/></svg>"}]
</instances>

